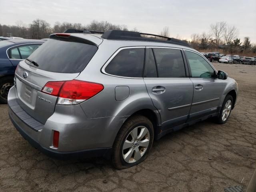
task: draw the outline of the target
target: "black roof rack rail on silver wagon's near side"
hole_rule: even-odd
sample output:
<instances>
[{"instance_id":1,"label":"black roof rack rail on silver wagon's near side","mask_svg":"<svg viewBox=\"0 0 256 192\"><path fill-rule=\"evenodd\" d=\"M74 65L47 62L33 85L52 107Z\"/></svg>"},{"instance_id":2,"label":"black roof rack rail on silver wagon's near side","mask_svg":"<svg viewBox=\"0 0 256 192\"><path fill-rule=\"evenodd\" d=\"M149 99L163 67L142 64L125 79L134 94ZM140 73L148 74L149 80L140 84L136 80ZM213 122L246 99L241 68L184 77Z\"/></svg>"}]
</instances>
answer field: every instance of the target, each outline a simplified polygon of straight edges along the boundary
<instances>
[{"instance_id":1,"label":"black roof rack rail on silver wagon's near side","mask_svg":"<svg viewBox=\"0 0 256 192\"><path fill-rule=\"evenodd\" d=\"M141 35L161 37L161 38L166 38L167 40L147 38ZM101 37L109 40L137 40L137 41L162 42L162 43L170 43L170 44L177 44L181 46L190 47L190 45L187 42L179 39L165 37L161 35L149 34L149 33L134 32L134 31L108 30Z\"/></svg>"}]
</instances>

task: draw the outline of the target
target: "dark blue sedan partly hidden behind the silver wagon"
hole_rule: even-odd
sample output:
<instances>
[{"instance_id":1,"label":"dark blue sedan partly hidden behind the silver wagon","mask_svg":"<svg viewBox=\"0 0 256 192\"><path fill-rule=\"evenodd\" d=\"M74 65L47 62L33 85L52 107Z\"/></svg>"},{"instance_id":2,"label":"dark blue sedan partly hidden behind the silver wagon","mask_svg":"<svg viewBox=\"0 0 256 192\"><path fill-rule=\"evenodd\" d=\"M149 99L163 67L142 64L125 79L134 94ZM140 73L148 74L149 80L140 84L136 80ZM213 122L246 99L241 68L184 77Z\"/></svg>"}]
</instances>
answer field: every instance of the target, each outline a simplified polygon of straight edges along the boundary
<instances>
[{"instance_id":1,"label":"dark blue sedan partly hidden behind the silver wagon","mask_svg":"<svg viewBox=\"0 0 256 192\"><path fill-rule=\"evenodd\" d=\"M7 103L9 89L14 85L18 63L30 56L45 41L9 39L0 41L0 103Z\"/></svg>"}]
</instances>

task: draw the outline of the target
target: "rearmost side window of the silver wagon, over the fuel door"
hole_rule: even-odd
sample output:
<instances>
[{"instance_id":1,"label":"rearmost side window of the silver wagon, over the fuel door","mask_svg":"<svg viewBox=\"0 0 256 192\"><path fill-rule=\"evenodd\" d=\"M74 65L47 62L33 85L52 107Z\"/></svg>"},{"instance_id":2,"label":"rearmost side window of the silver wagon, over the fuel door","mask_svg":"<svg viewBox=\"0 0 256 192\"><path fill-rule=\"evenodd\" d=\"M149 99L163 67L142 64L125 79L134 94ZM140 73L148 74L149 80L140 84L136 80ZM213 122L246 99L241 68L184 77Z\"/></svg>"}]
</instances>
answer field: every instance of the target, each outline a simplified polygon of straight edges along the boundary
<instances>
[{"instance_id":1,"label":"rearmost side window of the silver wagon, over the fuel door","mask_svg":"<svg viewBox=\"0 0 256 192\"><path fill-rule=\"evenodd\" d=\"M108 74L122 77L142 77L144 48L123 49L105 69Z\"/></svg>"}]
</instances>

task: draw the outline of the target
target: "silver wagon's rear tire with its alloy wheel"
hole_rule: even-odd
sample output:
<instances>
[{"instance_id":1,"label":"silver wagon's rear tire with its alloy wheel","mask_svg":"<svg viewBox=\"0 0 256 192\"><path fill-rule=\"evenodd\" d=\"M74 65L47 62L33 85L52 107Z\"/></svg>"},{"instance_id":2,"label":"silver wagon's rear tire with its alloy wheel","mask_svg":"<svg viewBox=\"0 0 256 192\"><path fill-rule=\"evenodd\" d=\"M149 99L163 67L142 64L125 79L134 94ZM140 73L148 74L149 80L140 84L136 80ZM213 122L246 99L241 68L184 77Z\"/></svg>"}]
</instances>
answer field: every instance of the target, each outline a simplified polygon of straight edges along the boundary
<instances>
[{"instance_id":1,"label":"silver wagon's rear tire with its alloy wheel","mask_svg":"<svg viewBox=\"0 0 256 192\"><path fill-rule=\"evenodd\" d=\"M138 138L142 131L144 133L147 132L146 135L142 138ZM135 137L136 140L134 140ZM126 120L126 122L124 122L120 128L113 144L113 166L117 169L124 169L144 161L147 158L150 149L152 148L153 140L154 128L152 122L148 118L142 115L136 115L128 118L128 120ZM127 141L126 146L124 144L125 141ZM147 148L142 147L142 144L145 146L148 144Z\"/></svg>"}]
</instances>

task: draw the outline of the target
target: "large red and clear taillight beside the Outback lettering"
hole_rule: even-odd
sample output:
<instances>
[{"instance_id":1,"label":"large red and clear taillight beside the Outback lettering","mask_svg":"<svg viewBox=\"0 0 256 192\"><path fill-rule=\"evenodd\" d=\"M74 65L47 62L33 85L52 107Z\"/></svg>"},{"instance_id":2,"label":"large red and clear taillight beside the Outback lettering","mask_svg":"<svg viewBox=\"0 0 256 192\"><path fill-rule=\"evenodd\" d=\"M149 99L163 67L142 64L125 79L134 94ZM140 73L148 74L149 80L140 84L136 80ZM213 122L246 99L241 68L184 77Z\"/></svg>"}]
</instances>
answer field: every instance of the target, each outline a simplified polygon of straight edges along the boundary
<instances>
[{"instance_id":1,"label":"large red and clear taillight beside the Outback lettering","mask_svg":"<svg viewBox=\"0 0 256 192\"><path fill-rule=\"evenodd\" d=\"M48 82L42 92L58 96L57 104L74 105L95 96L104 89L102 84L80 80Z\"/></svg>"}]
</instances>

